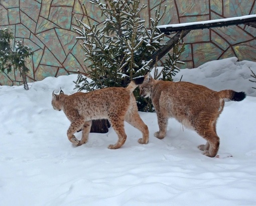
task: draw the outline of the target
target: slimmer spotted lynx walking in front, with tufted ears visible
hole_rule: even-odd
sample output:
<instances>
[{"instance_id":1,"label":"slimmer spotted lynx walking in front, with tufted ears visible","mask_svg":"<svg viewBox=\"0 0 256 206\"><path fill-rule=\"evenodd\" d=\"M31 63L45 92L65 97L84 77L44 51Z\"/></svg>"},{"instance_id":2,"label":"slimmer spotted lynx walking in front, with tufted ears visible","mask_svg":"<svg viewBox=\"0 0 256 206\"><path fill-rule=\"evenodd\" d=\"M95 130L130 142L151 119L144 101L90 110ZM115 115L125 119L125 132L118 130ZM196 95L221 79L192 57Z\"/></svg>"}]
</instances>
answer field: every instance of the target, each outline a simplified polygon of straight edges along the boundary
<instances>
[{"instance_id":1,"label":"slimmer spotted lynx walking in front, with tufted ears visible","mask_svg":"<svg viewBox=\"0 0 256 206\"><path fill-rule=\"evenodd\" d=\"M125 140L124 120L139 129L143 137L138 140L141 144L149 141L149 129L138 113L134 89L143 82L143 77L132 81L127 87L108 87L87 93L77 92L66 95L61 90L59 95L52 93L52 106L63 110L71 124L67 130L68 139L74 145L82 145L88 141L92 119L108 119L118 135L115 144L108 148L117 149ZM74 133L82 128L81 140Z\"/></svg>"}]
</instances>

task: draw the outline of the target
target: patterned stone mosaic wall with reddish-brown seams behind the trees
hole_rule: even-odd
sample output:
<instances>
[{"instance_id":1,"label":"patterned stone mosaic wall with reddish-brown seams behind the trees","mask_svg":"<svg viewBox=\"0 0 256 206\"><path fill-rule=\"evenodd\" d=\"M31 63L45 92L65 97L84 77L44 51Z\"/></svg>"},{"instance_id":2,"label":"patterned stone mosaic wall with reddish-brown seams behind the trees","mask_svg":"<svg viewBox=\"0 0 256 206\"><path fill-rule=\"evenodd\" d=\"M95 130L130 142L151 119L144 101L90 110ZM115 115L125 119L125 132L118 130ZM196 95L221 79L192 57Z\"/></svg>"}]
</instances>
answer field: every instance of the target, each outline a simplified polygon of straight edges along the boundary
<instances>
[{"instance_id":1,"label":"patterned stone mosaic wall with reddish-brown seams behind the trees","mask_svg":"<svg viewBox=\"0 0 256 206\"><path fill-rule=\"evenodd\" d=\"M15 41L23 40L33 48L28 62L29 81L47 76L85 72L84 55L73 27L78 19L86 22L85 3L95 23L103 21L98 8L89 0L0 0L0 28L9 27ZM185 2L185 3L184 3ZM159 0L141 0L147 4L142 18L155 17ZM256 13L256 0L163 0L167 10L161 24L219 19ZM182 55L184 67L197 67L207 61L237 56L239 60L256 60L256 29L245 25L193 30L185 38ZM0 73L1 85L21 82L16 73Z\"/></svg>"}]
</instances>

